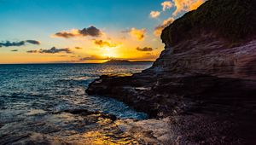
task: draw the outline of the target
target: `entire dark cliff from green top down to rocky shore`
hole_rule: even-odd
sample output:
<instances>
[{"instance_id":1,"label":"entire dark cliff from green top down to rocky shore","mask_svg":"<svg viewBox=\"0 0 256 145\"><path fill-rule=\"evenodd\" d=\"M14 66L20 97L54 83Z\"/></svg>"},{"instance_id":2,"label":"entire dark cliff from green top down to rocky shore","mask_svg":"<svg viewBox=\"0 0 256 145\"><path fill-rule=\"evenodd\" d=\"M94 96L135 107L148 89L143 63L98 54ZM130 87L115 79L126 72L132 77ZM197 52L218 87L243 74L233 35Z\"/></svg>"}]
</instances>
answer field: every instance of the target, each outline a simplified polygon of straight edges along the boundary
<instances>
[{"instance_id":1,"label":"entire dark cliff from green top down to rocky shore","mask_svg":"<svg viewBox=\"0 0 256 145\"><path fill-rule=\"evenodd\" d=\"M152 67L102 76L86 92L171 118L163 144L255 144L255 36L254 0L209 0L166 27Z\"/></svg>"}]
</instances>

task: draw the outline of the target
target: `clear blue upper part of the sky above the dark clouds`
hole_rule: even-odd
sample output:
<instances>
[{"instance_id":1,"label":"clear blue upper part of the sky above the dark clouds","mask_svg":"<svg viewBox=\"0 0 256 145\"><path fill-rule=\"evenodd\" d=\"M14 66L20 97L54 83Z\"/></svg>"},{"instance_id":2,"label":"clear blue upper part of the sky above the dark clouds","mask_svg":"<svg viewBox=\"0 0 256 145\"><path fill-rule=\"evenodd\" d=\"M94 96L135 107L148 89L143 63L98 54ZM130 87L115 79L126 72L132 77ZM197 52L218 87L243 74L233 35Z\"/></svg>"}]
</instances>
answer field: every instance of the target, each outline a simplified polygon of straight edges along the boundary
<instances>
[{"instance_id":1,"label":"clear blue upper part of the sky above the dark clouds","mask_svg":"<svg viewBox=\"0 0 256 145\"><path fill-rule=\"evenodd\" d=\"M153 31L160 23L148 17L152 9L161 9L158 0L2 0L0 3L0 30L7 38L37 37L38 32L53 33L90 25L110 30L147 27Z\"/></svg>"}]
</instances>

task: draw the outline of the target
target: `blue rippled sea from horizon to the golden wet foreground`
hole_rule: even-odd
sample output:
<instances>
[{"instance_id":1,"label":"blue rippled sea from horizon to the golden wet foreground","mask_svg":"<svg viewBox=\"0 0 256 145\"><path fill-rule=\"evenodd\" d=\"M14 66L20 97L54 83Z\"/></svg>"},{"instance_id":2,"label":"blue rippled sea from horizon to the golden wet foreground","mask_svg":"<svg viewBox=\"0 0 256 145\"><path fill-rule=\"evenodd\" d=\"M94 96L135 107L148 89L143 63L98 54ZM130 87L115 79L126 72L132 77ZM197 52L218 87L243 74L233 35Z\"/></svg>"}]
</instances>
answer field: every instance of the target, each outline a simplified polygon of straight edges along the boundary
<instances>
[{"instance_id":1,"label":"blue rippled sea from horizon to the golden wet foreground","mask_svg":"<svg viewBox=\"0 0 256 145\"><path fill-rule=\"evenodd\" d=\"M67 137L69 131L81 133L96 127L78 127L79 116L61 113L64 110L86 109L113 114L119 119L146 119L145 113L138 113L122 102L87 96L85 90L102 74L138 73L150 66L151 63L0 65L0 140L13 142L15 137L32 133L47 136L52 129L55 134L51 136Z\"/></svg>"}]
</instances>

